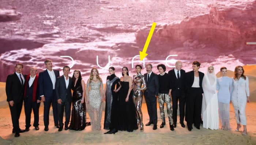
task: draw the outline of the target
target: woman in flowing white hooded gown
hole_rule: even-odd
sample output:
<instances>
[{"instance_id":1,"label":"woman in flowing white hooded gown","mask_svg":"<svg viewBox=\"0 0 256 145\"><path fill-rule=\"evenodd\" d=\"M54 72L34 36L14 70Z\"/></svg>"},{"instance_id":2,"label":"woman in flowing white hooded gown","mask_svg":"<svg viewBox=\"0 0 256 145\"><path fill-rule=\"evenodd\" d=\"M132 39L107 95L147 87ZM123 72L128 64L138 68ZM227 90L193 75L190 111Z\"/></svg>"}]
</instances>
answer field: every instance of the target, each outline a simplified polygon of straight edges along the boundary
<instances>
[{"instance_id":1,"label":"woman in flowing white hooded gown","mask_svg":"<svg viewBox=\"0 0 256 145\"><path fill-rule=\"evenodd\" d=\"M213 66L208 67L202 87L204 91L202 101L203 128L219 129L217 78Z\"/></svg>"}]
</instances>

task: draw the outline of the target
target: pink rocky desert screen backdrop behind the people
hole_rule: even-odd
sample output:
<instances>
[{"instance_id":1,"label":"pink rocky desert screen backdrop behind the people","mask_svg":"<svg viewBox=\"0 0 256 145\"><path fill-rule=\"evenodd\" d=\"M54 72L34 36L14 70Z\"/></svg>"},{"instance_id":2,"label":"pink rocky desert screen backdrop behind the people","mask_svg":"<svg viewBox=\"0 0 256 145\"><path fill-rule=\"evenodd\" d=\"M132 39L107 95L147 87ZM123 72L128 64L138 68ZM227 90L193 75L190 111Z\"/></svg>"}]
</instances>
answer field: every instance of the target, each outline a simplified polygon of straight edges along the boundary
<instances>
[{"instance_id":1,"label":"pink rocky desert screen backdrop behind the people","mask_svg":"<svg viewBox=\"0 0 256 145\"><path fill-rule=\"evenodd\" d=\"M106 66L108 57L116 75L123 66L132 75L132 58L142 51L153 22L145 63L152 63L155 73L157 64L168 64L168 71L176 60L186 71L193 60L203 72L210 64L216 73L221 66L233 71L256 62L256 45L246 45L256 42L255 13L255 0L1 0L0 82L18 62L24 74L31 66L44 70L45 59L59 70L72 65L60 56L72 57L70 75L81 70L86 80L95 66L105 82L108 66L99 66ZM139 58L134 64L143 65Z\"/></svg>"}]
</instances>

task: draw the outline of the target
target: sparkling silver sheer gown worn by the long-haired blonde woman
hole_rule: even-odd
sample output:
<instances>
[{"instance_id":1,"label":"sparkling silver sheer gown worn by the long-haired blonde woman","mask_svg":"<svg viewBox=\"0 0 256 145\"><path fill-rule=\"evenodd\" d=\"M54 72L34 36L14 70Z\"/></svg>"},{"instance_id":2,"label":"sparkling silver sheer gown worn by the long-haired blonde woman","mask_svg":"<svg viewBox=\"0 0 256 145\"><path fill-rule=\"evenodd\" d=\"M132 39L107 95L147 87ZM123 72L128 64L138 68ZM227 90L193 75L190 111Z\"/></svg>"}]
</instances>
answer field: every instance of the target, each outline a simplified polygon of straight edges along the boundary
<instances>
[{"instance_id":1,"label":"sparkling silver sheer gown worn by the long-haired blonde woman","mask_svg":"<svg viewBox=\"0 0 256 145\"><path fill-rule=\"evenodd\" d=\"M90 86L90 91L89 91ZM91 82L87 84L86 93L88 94L89 103L86 104L87 112L91 119L91 129L101 129L101 116L102 116L102 101L101 94L103 94L103 84L101 81Z\"/></svg>"}]
</instances>

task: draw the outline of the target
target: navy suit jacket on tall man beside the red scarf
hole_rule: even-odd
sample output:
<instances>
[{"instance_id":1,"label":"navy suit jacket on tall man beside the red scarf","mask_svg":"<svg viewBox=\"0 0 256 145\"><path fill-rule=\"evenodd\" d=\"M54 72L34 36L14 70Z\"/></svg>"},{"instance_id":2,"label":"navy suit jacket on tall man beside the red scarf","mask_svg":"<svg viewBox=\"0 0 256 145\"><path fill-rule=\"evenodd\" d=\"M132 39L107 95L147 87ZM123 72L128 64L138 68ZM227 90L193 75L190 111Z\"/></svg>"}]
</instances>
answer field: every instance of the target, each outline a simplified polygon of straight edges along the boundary
<instances>
[{"instance_id":1,"label":"navy suit jacket on tall man beside the red scarf","mask_svg":"<svg viewBox=\"0 0 256 145\"><path fill-rule=\"evenodd\" d=\"M53 70L53 71L57 80L57 77L60 76L60 72L58 70ZM44 70L39 73L38 87L39 87L39 96L44 95L46 99L53 97L52 80L47 70Z\"/></svg>"}]
</instances>

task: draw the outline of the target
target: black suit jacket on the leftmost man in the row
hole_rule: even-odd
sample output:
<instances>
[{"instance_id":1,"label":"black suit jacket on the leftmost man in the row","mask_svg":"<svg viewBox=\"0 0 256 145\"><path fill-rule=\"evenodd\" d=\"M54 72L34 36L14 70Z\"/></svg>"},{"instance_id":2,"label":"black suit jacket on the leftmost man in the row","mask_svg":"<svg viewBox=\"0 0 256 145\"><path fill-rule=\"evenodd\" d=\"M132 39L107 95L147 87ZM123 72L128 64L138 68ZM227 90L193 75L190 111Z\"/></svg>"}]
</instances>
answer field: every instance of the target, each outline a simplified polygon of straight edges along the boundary
<instances>
[{"instance_id":1,"label":"black suit jacket on the leftmost man in the row","mask_svg":"<svg viewBox=\"0 0 256 145\"><path fill-rule=\"evenodd\" d=\"M25 75L23 75L23 77L26 78ZM5 84L5 91L8 102L14 101L14 103L16 103L23 101L24 85L21 84L20 79L16 73L8 75Z\"/></svg>"}]
</instances>

